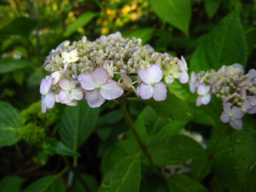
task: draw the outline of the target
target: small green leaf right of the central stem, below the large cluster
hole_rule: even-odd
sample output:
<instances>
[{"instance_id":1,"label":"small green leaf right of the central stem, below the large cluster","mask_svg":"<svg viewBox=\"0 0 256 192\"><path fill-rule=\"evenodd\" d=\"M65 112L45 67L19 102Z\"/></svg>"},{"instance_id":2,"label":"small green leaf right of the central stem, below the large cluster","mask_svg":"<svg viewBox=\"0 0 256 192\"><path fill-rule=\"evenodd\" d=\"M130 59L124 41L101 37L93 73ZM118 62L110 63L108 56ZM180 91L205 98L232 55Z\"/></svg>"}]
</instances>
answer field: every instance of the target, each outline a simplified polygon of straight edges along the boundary
<instances>
[{"instance_id":1,"label":"small green leaf right of the central stem, below the large cluster","mask_svg":"<svg viewBox=\"0 0 256 192\"><path fill-rule=\"evenodd\" d=\"M146 107L144 125L148 136L154 136L169 122L169 119L160 117L150 106Z\"/></svg>"}]
</instances>

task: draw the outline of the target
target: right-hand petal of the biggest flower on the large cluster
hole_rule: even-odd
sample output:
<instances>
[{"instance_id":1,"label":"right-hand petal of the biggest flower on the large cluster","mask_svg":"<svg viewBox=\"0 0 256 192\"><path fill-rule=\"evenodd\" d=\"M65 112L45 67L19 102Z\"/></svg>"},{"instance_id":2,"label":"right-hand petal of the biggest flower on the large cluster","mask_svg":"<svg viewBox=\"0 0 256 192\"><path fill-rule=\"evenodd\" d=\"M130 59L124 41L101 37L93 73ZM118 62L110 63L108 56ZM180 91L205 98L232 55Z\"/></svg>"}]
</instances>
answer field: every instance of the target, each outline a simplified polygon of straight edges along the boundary
<instances>
[{"instance_id":1,"label":"right-hand petal of the biggest flower on the large cluster","mask_svg":"<svg viewBox=\"0 0 256 192\"><path fill-rule=\"evenodd\" d=\"M124 90L112 79L108 79L105 84L102 84L99 90L102 97L108 100L116 99L124 93Z\"/></svg>"}]
</instances>

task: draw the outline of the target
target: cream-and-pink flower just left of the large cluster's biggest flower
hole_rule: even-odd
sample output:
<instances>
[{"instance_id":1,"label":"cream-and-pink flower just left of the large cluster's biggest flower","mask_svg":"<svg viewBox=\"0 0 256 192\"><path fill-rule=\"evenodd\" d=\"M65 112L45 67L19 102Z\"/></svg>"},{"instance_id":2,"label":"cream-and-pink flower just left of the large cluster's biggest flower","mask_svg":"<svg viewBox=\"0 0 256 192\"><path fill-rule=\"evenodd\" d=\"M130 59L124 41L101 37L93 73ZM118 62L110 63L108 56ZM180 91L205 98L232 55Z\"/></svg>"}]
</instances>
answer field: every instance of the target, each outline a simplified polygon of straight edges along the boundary
<instances>
[{"instance_id":1,"label":"cream-and-pink flower just left of the large cluster's biggest flower","mask_svg":"<svg viewBox=\"0 0 256 192\"><path fill-rule=\"evenodd\" d=\"M67 78L61 78L59 80L59 85L61 90L58 94L58 99L60 103L68 104L75 100L83 99L83 92L81 89L76 87L76 82L74 80L68 80ZM77 102L74 101L76 104Z\"/></svg>"}]
</instances>

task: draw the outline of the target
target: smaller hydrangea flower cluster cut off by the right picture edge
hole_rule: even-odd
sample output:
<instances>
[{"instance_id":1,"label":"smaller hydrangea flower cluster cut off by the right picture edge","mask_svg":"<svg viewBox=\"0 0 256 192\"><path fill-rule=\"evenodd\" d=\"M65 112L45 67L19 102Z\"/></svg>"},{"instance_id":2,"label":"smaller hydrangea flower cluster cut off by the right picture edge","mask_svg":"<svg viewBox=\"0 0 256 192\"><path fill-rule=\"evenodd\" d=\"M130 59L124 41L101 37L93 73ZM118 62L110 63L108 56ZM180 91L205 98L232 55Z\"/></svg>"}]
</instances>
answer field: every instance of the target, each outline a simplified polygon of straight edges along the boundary
<instances>
[{"instance_id":1,"label":"smaller hydrangea flower cluster cut off by the right picture edge","mask_svg":"<svg viewBox=\"0 0 256 192\"><path fill-rule=\"evenodd\" d=\"M195 74L192 71L189 80L192 93L197 90L196 105L207 105L211 94L220 97L224 111L221 114L222 122L229 122L238 130L243 127L241 118L245 113L256 113L256 70L251 69L244 74L240 64L222 66L217 72L201 71Z\"/></svg>"}]
</instances>

